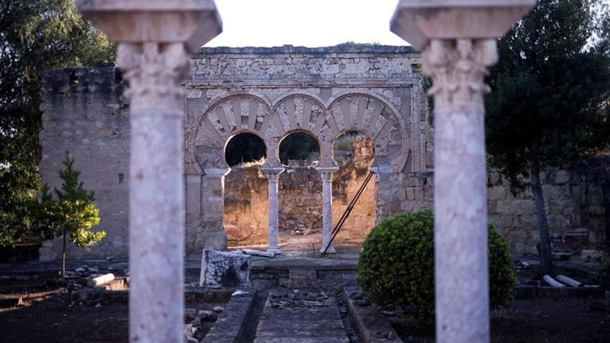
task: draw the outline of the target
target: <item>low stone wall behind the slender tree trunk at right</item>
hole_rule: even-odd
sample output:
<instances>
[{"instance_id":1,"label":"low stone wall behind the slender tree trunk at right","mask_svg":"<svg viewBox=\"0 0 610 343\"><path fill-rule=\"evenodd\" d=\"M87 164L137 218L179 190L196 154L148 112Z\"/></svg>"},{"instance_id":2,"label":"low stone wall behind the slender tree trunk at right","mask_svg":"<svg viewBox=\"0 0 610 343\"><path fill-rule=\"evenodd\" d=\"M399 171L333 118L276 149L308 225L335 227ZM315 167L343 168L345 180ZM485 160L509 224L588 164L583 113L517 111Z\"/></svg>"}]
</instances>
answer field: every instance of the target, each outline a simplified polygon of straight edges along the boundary
<instances>
[{"instance_id":1,"label":"low stone wall behind the slender tree trunk at right","mask_svg":"<svg viewBox=\"0 0 610 343\"><path fill-rule=\"evenodd\" d=\"M564 249L561 240L573 231L579 231L579 236L584 233L588 243L566 249L602 249L610 233L609 170L610 156L601 155L566 170L541 173L548 228L555 241L555 250ZM489 173L489 186L489 222L508 239L516 252L537 252L539 238L532 192L528 189L523 194L512 195L508 182L493 171Z\"/></svg>"}]
</instances>

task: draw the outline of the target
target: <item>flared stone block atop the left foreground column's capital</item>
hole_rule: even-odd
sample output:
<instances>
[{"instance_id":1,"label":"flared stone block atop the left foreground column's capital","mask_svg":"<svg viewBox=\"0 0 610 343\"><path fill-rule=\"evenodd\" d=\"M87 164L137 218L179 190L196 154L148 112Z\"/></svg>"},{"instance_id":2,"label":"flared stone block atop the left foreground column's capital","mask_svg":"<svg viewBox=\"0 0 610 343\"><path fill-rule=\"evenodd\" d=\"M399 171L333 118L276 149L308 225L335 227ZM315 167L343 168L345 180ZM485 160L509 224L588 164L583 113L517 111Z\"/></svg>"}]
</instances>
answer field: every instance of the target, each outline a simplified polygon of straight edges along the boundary
<instances>
[{"instance_id":1,"label":"flared stone block atop the left foreground column's capital","mask_svg":"<svg viewBox=\"0 0 610 343\"><path fill-rule=\"evenodd\" d=\"M78 8L121 43L184 43L195 53L223 30L212 0L79 0Z\"/></svg>"}]
</instances>

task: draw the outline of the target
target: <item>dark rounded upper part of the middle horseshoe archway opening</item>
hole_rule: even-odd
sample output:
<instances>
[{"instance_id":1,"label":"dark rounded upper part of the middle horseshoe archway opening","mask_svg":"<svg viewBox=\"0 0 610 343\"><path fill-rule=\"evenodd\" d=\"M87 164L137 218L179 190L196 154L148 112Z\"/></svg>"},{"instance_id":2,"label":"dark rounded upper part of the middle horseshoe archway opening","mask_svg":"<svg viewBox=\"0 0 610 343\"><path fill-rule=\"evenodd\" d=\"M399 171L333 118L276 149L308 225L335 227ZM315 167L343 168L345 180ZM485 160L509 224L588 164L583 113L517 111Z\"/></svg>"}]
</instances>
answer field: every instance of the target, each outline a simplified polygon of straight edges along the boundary
<instances>
[{"instance_id":1,"label":"dark rounded upper part of the middle horseshoe archway opening","mask_svg":"<svg viewBox=\"0 0 610 343\"><path fill-rule=\"evenodd\" d=\"M292 132L279 143L279 160L284 166L315 166L319 159L320 143L308 132Z\"/></svg>"}]
</instances>

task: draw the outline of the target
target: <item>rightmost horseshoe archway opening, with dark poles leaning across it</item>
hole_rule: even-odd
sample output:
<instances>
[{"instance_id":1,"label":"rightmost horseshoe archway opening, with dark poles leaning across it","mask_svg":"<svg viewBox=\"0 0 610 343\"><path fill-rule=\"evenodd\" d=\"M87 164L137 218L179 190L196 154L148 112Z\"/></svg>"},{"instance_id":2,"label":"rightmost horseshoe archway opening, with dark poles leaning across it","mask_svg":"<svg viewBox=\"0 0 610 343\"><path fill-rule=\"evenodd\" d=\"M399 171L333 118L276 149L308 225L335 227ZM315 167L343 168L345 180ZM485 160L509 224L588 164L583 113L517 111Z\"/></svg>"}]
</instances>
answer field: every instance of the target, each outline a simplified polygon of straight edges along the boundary
<instances>
[{"instance_id":1,"label":"rightmost horseshoe archway opening, with dark poles leaning across it","mask_svg":"<svg viewBox=\"0 0 610 343\"><path fill-rule=\"evenodd\" d=\"M375 159L374 141L363 132L343 132L335 140L333 155L339 166L333 175L333 225L364 187L333 244L357 246L368 236L376 220L376 176L363 186Z\"/></svg>"}]
</instances>

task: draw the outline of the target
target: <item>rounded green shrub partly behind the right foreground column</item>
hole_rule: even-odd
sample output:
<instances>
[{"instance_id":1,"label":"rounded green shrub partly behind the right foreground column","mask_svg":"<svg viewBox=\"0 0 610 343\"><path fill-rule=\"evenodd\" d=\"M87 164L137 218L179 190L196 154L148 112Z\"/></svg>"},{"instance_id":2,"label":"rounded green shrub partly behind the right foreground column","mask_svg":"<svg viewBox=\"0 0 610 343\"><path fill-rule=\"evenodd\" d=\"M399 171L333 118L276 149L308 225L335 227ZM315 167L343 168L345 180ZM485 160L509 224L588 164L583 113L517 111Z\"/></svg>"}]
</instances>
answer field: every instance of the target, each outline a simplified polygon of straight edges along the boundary
<instances>
[{"instance_id":1,"label":"rounded green shrub partly behind the right foreground column","mask_svg":"<svg viewBox=\"0 0 610 343\"><path fill-rule=\"evenodd\" d=\"M432 211L383 220L365 240L356 282L377 304L401 306L405 315L434 315L434 217ZM492 308L513 300L516 276L506 241L489 225L489 289Z\"/></svg>"}]
</instances>

